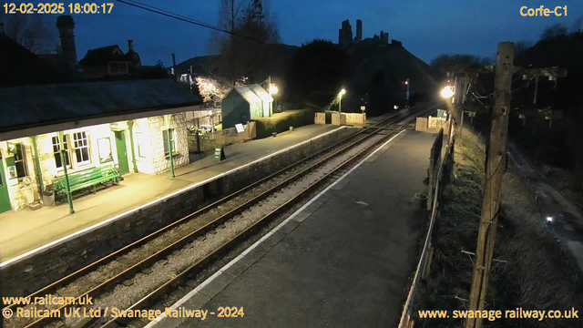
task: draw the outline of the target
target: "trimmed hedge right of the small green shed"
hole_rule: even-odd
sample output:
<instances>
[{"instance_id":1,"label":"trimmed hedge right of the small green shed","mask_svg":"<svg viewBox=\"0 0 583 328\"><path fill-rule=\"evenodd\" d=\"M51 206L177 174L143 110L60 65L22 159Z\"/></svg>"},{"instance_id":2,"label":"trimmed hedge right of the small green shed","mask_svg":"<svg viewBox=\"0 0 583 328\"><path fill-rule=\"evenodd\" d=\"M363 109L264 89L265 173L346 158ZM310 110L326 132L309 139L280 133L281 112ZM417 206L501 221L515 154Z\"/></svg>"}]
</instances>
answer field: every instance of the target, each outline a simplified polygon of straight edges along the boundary
<instances>
[{"instance_id":1,"label":"trimmed hedge right of the small green shed","mask_svg":"<svg viewBox=\"0 0 583 328\"><path fill-rule=\"evenodd\" d=\"M290 127L313 124L313 113L310 109L296 109L273 114L271 118L256 118L254 121L257 122L257 138L271 137L273 132L281 133Z\"/></svg>"}]
</instances>

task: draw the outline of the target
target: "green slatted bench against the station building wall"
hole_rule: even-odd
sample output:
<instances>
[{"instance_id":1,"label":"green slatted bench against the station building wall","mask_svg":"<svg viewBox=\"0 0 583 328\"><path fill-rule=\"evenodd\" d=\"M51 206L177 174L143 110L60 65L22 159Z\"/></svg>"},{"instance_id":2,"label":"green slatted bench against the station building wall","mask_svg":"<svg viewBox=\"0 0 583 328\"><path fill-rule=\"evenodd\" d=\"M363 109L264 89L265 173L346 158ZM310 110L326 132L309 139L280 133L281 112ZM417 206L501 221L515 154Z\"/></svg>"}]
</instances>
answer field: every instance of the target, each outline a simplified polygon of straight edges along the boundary
<instances>
[{"instance_id":1,"label":"green slatted bench against the station building wall","mask_svg":"<svg viewBox=\"0 0 583 328\"><path fill-rule=\"evenodd\" d=\"M113 164L102 167L84 169L75 173L67 174L69 178L69 186L71 192L77 190L84 190L89 187L95 187L98 184L106 183L107 181L114 181L119 184L118 169ZM53 190L57 199L66 198L66 180L65 176L53 179Z\"/></svg>"}]
</instances>

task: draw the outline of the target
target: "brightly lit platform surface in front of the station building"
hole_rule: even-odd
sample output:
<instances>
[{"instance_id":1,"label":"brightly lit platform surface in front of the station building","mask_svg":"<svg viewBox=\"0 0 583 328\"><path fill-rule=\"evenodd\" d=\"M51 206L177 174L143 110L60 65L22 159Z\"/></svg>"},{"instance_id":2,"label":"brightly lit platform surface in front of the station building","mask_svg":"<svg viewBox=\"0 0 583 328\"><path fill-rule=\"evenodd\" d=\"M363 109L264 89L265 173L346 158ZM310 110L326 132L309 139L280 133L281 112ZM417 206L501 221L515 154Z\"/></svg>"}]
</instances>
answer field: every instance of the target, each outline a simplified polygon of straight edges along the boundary
<instances>
[{"instance_id":1,"label":"brightly lit platform surface in front of the station building","mask_svg":"<svg viewBox=\"0 0 583 328\"><path fill-rule=\"evenodd\" d=\"M40 210L26 209L1 213L0 265L5 265L7 261L15 261L26 252L67 238L73 233L91 229L95 224L110 220L140 205L260 160L336 128L339 127L309 125L278 134L276 138L263 138L226 146L224 150L227 159L215 161L211 154L186 167L176 169L175 179L170 178L169 172L158 175L131 173L124 176L119 186L74 199L76 210L74 214L69 214L67 203L43 207Z\"/></svg>"}]
</instances>

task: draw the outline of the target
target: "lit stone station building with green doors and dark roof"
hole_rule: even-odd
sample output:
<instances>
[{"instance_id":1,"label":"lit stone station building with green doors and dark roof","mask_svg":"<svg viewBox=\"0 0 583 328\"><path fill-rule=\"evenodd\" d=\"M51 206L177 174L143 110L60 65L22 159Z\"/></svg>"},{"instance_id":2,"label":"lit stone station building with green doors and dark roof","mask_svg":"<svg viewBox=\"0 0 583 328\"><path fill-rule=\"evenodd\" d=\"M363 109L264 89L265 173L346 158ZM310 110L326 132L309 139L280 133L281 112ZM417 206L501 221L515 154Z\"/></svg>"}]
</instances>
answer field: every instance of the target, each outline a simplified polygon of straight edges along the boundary
<instances>
[{"instance_id":1,"label":"lit stone station building with green doors and dark roof","mask_svg":"<svg viewBox=\"0 0 583 328\"><path fill-rule=\"evenodd\" d=\"M157 174L170 152L188 165L186 113L201 103L169 79L5 87L0 99L0 212L37 203L65 174Z\"/></svg>"}]
</instances>

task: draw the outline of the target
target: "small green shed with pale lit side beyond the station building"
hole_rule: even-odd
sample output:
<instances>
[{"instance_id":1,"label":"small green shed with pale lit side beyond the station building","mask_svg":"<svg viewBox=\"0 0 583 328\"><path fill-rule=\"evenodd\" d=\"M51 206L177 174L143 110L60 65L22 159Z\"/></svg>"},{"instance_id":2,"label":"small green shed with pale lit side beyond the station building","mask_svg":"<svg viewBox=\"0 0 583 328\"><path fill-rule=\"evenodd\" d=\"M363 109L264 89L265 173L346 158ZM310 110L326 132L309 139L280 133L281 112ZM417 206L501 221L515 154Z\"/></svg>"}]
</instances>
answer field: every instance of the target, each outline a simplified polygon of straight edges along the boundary
<instances>
[{"instance_id":1,"label":"small green shed with pale lit side beyond the station building","mask_svg":"<svg viewBox=\"0 0 583 328\"><path fill-rule=\"evenodd\" d=\"M222 98L222 128L270 117L270 95L260 85L236 86Z\"/></svg>"}]
</instances>

